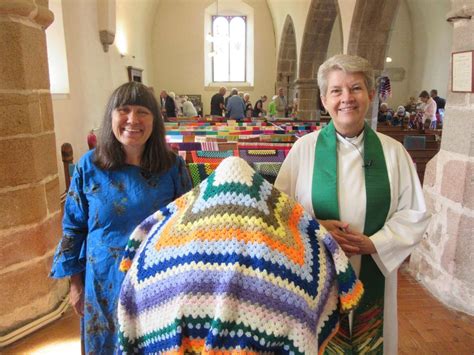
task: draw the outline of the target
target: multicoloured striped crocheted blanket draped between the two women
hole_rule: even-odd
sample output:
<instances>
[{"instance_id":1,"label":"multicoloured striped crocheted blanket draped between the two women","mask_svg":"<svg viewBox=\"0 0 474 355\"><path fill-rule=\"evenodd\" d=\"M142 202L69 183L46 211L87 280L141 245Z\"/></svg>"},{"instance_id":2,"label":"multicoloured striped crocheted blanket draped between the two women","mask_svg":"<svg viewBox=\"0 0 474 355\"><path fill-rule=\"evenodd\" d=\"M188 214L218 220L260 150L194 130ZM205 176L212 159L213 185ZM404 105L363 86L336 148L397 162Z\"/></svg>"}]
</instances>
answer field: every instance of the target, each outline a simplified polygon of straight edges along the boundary
<instances>
[{"instance_id":1,"label":"multicoloured striped crocheted blanket draped between the two women","mask_svg":"<svg viewBox=\"0 0 474 355\"><path fill-rule=\"evenodd\" d=\"M317 354L363 293L332 237L238 157L142 222L121 269L121 353Z\"/></svg>"}]
</instances>

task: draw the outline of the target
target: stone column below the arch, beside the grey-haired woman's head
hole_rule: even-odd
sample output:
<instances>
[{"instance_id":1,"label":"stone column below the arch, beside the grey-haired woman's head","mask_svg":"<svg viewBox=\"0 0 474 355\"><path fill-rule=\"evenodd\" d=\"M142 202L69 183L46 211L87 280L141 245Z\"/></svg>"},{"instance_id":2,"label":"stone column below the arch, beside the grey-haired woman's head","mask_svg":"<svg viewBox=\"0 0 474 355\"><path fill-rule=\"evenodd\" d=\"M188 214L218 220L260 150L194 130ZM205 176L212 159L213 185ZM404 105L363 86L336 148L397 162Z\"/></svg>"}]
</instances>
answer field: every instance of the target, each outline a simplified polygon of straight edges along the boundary
<instances>
[{"instance_id":1,"label":"stone column below the arch, beside the grey-haired woman's head","mask_svg":"<svg viewBox=\"0 0 474 355\"><path fill-rule=\"evenodd\" d=\"M298 79L295 81L295 90L298 93L298 119L318 120L317 107L319 88L316 79Z\"/></svg>"}]
</instances>

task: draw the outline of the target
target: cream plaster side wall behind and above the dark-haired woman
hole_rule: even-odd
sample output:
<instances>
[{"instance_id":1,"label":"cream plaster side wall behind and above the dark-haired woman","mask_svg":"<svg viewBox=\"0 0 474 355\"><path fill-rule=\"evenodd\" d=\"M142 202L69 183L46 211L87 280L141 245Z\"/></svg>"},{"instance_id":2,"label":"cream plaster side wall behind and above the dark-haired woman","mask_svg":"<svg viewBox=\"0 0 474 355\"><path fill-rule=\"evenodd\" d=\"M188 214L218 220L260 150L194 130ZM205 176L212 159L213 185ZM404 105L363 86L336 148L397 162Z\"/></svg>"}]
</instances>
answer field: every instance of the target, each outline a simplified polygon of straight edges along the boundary
<instances>
[{"instance_id":1,"label":"cream plaster side wall behind and above the dark-haired woman","mask_svg":"<svg viewBox=\"0 0 474 355\"><path fill-rule=\"evenodd\" d=\"M128 81L126 67L144 69L145 84L151 80L150 36L159 0L117 1L117 24L122 24L130 43L130 56L120 57L115 45L105 53L99 40L96 0L63 0L64 35L68 61L68 95L53 95L58 169L63 171L61 144L69 142L77 161L88 149L86 137L100 125L107 99ZM61 176L62 174L60 174ZM64 191L64 177L60 191Z\"/></svg>"}]
</instances>

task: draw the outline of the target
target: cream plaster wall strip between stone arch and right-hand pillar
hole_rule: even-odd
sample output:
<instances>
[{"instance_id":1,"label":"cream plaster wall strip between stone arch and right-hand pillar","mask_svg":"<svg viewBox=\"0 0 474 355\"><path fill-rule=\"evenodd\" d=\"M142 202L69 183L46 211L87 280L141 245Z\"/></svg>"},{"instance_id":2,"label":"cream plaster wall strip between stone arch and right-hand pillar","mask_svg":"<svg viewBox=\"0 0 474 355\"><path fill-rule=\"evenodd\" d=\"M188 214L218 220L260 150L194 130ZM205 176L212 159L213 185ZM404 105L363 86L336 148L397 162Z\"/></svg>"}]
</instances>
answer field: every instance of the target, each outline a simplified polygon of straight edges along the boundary
<instances>
[{"instance_id":1,"label":"cream plaster wall strip between stone arch and right-hand pillar","mask_svg":"<svg viewBox=\"0 0 474 355\"><path fill-rule=\"evenodd\" d=\"M446 21L449 0L406 0L413 28L413 63L407 96L438 89L446 98L453 29Z\"/></svg>"}]
</instances>

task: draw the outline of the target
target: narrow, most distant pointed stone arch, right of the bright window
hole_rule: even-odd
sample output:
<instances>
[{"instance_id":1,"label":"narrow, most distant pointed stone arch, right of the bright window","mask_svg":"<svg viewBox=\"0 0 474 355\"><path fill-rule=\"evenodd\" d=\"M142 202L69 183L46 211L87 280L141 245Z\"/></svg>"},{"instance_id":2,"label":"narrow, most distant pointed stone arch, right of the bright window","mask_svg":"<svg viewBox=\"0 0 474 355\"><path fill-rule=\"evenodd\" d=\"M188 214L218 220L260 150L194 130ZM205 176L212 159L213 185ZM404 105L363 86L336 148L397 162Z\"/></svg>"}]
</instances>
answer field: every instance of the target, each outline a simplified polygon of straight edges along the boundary
<instances>
[{"instance_id":1,"label":"narrow, most distant pointed stone arch, right of the bright window","mask_svg":"<svg viewBox=\"0 0 474 355\"><path fill-rule=\"evenodd\" d=\"M293 19L286 16L281 35L280 49L278 52L276 88L286 88L288 100L295 97L294 82L296 79L297 62L296 36ZM275 90L276 91L276 90Z\"/></svg>"}]
</instances>

